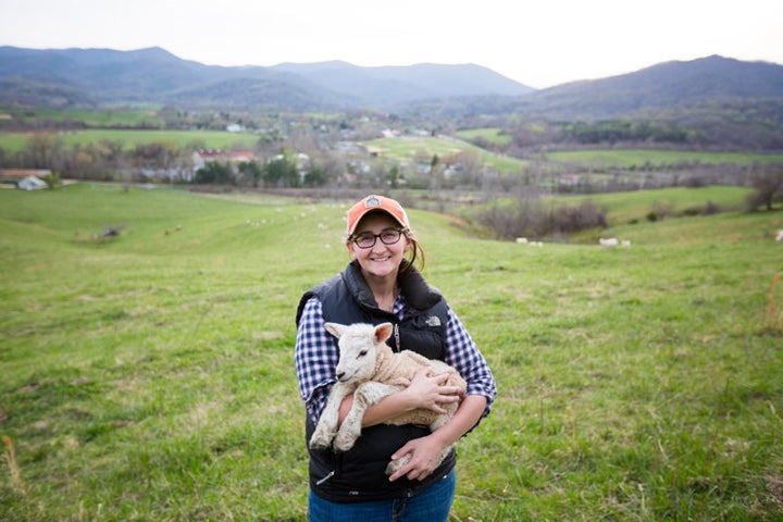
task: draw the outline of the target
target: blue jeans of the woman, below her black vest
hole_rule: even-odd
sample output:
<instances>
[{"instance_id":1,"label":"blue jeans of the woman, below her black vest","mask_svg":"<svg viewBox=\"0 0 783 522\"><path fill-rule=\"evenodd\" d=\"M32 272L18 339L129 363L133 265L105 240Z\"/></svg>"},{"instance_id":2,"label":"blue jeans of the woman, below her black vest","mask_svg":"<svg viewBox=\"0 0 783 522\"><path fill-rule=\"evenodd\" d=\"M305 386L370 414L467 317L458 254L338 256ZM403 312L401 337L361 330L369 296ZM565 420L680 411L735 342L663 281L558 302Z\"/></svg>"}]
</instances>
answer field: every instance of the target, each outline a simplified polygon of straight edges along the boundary
<instances>
[{"instance_id":1,"label":"blue jeans of the woman, below her black vest","mask_svg":"<svg viewBox=\"0 0 783 522\"><path fill-rule=\"evenodd\" d=\"M426 490L411 498L372 502L330 502L310 492L310 522L446 522L451 510L457 472L451 472Z\"/></svg>"}]
</instances>

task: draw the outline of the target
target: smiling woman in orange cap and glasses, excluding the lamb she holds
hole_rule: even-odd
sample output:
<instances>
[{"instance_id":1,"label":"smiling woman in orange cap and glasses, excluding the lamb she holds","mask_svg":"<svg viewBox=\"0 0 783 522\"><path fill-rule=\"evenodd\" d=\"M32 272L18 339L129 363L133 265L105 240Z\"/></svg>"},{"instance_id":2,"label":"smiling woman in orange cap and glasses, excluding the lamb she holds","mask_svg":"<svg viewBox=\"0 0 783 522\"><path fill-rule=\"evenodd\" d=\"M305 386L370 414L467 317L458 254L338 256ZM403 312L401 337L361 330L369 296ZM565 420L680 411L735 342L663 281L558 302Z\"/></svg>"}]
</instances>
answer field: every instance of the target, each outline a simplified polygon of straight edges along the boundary
<instances>
[{"instance_id":1,"label":"smiling woman in orange cap and glasses, excluding the lamb she holds","mask_svg":"<svg viewBox=\"0 0 783 522\"><path fill-rule=\"evenodd\" d=\"M389 344L455 366L468 382L457 413L444 426L394 426L384 421L415 408L443 412L439 405L460 400L443 386L446 376L419 373L408 388L368 409L362 435L344 453L310 451L310 520L426 521L448 518L455 494L453 452L437 465L440 451L489 413L495 381L470 335L444 297L414 266L423 259L408 215L390 198L368 196L348 210L346 247L351 262L331 279L307 291L297 310L296 371L307 409L309 442L335 382L337 341L324 322L395 325ZM408 258L406 258L408 256ZM352 396L340 407L340 422ZM389 459L410 455L391 476Z\"/></svg>"}]
</instances>

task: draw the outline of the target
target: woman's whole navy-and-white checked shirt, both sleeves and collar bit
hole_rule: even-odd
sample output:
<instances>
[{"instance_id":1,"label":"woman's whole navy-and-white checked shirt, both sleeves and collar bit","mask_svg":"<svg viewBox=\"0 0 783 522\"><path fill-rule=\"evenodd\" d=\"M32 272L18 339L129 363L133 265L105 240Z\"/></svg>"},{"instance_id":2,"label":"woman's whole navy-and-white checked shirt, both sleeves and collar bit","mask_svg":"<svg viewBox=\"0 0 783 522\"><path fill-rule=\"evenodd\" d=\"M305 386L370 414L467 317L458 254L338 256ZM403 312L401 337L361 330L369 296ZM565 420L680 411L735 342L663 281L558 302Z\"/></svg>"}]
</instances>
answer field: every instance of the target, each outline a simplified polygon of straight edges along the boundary
<instances>
[{"instance_id":1,"label":"woman's whole navy-and-white checked shirt, both sleeves and collar bit","mask_svg":"<svg viewBox=\"0 0 783 522\"><path fill-rule=\"evenodd\" d=\"M394 314L400 320L406 311L402 296L397 298ZM335 383L335 368L339 361L337 339L324 328L321 301L311 297L304 304L296 339L296 372L299 393L308 413L318 421L326 406L328 391ZM487 403L483 417L489 414L497 395L495 378L486 360L476 347L457 314L448 308L446 326L446 361L460 372L468 382L468 395L482 395Z\"/></svg>"}]
</instances>

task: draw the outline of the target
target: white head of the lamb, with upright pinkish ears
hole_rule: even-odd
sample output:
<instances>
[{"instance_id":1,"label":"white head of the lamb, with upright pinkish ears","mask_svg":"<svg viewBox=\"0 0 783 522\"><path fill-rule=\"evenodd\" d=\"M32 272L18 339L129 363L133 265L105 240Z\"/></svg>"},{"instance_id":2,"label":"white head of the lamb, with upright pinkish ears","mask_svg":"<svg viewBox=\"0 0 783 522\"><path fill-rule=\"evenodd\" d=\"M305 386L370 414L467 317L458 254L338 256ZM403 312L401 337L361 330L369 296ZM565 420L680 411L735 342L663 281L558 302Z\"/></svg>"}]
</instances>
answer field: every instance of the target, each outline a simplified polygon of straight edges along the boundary
<instances>
[{"instance_id":1,"label":"white head of the lamb, with upright pinkish ears","mask_svg":"<svg viewBox=\"0 0 783 522\"><path fill-rule=\"evenodd\" d=\"M335 376L341 383L363 383L375 371L378 346L391 335L391 323L357 323L350 325L326 323L326 331L339 339L340 358Z\"/></svg>"}]
</instances>

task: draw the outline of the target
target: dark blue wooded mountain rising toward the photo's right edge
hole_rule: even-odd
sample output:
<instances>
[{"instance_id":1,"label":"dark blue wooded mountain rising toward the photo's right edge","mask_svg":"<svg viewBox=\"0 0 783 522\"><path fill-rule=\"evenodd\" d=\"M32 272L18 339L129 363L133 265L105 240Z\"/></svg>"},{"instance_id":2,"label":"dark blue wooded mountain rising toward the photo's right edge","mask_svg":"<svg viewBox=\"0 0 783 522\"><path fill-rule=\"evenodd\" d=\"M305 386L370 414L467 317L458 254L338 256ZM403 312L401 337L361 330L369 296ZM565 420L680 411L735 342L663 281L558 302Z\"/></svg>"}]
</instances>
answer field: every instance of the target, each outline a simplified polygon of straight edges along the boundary
<instances>
[{"instance_id":1,"label":"dark blue wooded mountain rising toward the photo's right edge","mask_svg":"<svg viewBox=\"0 0 783 522\"><path fill-rule=\"evenodd\" d=\"M759 110L760 105L760 110ZM754 119L783 121L783 65L712 55L672 61L607 78L572 82L515 97L472 97L448 103L422 101L431 117L524 113L550 121L621 116L659 117L683 109L749 111Z\"/></svg>"}]
</instances>

